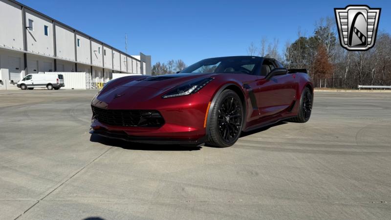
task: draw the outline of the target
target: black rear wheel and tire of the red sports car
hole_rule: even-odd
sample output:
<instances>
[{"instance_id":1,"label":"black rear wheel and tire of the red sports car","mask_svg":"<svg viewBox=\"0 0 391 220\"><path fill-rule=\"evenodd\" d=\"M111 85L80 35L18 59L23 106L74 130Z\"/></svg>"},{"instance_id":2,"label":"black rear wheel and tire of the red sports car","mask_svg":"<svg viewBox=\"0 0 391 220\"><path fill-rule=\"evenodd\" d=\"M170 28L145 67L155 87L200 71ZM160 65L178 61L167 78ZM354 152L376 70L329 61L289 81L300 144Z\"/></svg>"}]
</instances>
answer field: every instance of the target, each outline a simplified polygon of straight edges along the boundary
<instances>
[{"instance_id":1,"label":"black rear wheel and tire of the red sports car","mask_svg":"<svg viewBox=\"0 0 391 220\"><path fill-rule=\"evenodd\" d=\"M297 116L291 118L291 122L305 123L309 120L312 111L313 104L313 94L311 90L307 87L303 89L302 96L300 97L299 109L297 111Z\"/></svg>"}]
</instances>

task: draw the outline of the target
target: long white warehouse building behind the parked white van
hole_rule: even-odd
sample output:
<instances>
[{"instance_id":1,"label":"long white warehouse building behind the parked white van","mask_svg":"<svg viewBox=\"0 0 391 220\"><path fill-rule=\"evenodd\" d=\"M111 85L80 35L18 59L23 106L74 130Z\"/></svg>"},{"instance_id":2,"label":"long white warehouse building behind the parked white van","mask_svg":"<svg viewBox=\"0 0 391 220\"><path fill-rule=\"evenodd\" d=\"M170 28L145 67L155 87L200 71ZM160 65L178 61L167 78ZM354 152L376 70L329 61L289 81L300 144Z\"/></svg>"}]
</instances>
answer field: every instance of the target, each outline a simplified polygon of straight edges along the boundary
<instances>
[{"instance_id":1,"label":"long white warehouse building behind the parked white van","mask_svg":"<svg viewBox=\"0 0 391 220\"><path fill-rule=\"evenodd\" d=\"M93 83L106 83L112 73L151 70L151 56L129 55L15 0L0 0L0 89L16 89L39 72L87 72Z\"/></svg>"}]
</instances>

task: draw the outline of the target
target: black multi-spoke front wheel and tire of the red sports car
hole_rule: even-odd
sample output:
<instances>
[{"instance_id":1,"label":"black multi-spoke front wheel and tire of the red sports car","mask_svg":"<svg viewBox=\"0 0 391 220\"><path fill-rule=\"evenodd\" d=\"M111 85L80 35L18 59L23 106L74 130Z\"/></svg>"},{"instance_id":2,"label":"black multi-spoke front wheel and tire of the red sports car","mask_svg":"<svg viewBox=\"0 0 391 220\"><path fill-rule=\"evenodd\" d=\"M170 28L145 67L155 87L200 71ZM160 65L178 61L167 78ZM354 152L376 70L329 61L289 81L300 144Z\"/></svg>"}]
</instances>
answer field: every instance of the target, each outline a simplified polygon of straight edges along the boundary
<instances>
[{"instance_id":1,"label":"black multi-spoke front wheel and tire of the red sports car","mask_svg":"<svg viewBox=\"0 0 391 220\"><path fill-rule=\"evenodd\" d=\"M244 110L238 94L232 90L222 91L212 109L206 144L215 147L229 147L238 140L243 124Z\"/></svg>"}]
</instances>

